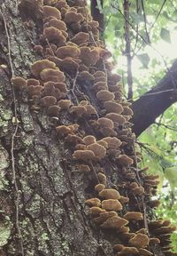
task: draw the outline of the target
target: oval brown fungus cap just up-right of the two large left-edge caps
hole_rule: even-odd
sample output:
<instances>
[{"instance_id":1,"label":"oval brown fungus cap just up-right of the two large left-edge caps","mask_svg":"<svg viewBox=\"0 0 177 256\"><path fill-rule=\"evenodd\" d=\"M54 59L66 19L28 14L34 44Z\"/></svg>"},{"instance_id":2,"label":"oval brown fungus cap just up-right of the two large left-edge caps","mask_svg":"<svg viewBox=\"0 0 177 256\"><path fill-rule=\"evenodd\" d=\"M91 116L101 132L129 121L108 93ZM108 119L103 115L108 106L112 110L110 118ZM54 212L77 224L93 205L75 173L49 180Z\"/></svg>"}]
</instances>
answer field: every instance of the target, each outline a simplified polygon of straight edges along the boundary
<instances>
[{"instance_id":1,"label":"oval brown fungus cap just up-right of the two large left-edge caps","mask_svg":"<svg viewBox=\"0 0 177 256\"><path fill-rule=\"evenodd\" d=\"M56 51L56 55L59 59L65 59L66 57L78 58L80 56L80 49L74 46L59 47Z\"/></svg>"}]
</instances>

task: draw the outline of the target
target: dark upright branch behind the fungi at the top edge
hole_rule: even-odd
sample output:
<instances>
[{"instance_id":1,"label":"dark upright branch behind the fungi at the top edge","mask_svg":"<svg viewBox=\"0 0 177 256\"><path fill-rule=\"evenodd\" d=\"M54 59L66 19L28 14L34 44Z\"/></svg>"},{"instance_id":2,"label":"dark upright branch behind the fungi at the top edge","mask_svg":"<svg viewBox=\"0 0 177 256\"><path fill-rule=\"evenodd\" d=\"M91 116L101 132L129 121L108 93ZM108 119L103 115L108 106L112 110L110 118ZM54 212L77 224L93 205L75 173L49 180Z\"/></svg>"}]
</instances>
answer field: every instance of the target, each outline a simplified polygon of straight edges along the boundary
<instances>
[{"instance_id":1,"label":"dark upright branch behind the fungi at the top edge","mask_svg":"<svg viewBox=\"0 0 177 256\"><path fill-rule=\"evenodd\" d=\"M100 0L102 8L104 8L104 0ZM97 0L91 0L91 15L93 20L98 21L100 35L104 33L104 13L101 13L97 7Z\"/></svg>"}]
</instances>

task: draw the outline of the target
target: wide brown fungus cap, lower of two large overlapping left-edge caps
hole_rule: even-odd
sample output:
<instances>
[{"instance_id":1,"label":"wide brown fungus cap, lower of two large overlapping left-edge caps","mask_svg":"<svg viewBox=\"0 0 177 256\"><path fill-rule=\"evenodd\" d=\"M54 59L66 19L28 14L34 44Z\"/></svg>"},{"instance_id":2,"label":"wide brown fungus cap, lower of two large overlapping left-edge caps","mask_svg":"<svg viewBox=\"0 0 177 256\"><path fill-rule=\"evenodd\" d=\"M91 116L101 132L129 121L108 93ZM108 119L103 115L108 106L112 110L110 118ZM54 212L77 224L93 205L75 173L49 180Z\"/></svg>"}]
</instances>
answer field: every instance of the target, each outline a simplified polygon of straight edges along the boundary
<instances>
[{"instance_id":1,"label":"wide brown fungus cap, lower of two large overlapping left-edge caps","mask_svg":"<svg viewBox=\"0 0 177 256\"><path fill-rule=\"evenodd\" d=\"M57 83L63 83L65 81L65 75L59 70L59 68L44 68L40 73L40 76L44 82L53 81Z\"/></svg>"}]
</instances>

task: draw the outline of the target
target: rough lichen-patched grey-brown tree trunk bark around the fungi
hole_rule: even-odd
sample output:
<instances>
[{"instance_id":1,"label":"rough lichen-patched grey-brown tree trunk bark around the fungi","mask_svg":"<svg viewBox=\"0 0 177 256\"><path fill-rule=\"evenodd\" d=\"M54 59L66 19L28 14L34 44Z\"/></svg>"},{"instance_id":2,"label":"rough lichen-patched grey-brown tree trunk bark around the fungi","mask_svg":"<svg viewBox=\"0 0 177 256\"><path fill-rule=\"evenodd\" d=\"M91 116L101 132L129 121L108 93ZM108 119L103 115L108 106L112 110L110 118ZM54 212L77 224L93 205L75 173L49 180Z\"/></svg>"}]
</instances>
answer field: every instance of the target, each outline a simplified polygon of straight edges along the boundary
<instances>
[{"instance_id":1,"label":"rough lichen-patched grey-brown tree trunk bark around the fungi","mask_svg":"<svg viewBox=\"0 0 177 256\"><path fill-rule=\"evenodd\" d=\"M94 187L98 183L98 172L107 176L106 188L119 189L121 196L129 197L128 204L122 203L123 210L119 216L127 211L142 212L143 220L130 221L131 232L147 228L150 237L158 236L150 229L150 207L154 202L143 191L140 196L136 190L131 190L134 189L131 187L133 182L136 182L134 185L139 190L142 186L145 192L151 188L156 190L156 186L147 186L146 175L136 166L137 157L131 136L117 153L132 156L129 161L135 160L133 166L122 166L117 159L109 156L102 161L89 162L89 173L81 172L81 164L87 162L73 160L74 147L65 143L65 138L58 137L56 126L77 123L81 126L80 136L82 134L83 137L85 132L85 135L95 135L97 140L102 139L102 134L90 126L90 119L74 116L67 111L60 112L58 119L47 116L45 109L32 111L26 88L13 91L13 72L15 76L27 79L31 77L31 65L35 60L42 59L33 47L42 33L41 9L37 5L30 5L33 1L22 2L27 8L27 12L22 8L21 13L26 23L20 19L15 1L5 0L0 7L1 255L113 256L114 244L126 246L128 240L125 234L122 235L123 231L100 228L91 220L89 207L85 205L86 199L97 197ZM32 17L34 20L31 20ZM103 66L100 64L98 68L104 70ZM71 80L66 73L65 76L67 88L70 89L68 99L75 104L81 101L83 95L89 97L98 114L103 115L100 112L102 105L94 92L90 91L92 84L87 81L76 83L78 91L73 93L74 77ZM148 249L154 255L165 255L162 252L163 241L160 245L150 244Z\"/></svg>"}]
</instances>

